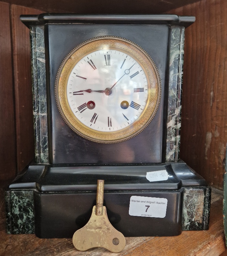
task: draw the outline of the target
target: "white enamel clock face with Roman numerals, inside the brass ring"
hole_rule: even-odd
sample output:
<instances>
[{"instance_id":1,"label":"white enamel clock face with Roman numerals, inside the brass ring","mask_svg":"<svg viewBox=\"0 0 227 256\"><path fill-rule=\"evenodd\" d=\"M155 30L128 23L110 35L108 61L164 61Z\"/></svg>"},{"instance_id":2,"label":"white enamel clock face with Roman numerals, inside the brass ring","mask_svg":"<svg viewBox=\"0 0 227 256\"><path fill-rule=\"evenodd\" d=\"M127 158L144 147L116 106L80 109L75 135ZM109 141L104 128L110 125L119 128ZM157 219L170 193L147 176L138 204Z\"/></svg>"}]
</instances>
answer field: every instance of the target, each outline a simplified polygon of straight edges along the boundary
<instances>
[{"instance_id":1,"label":"white enamel clock face with Roman numerals, inside the brass ring","mask_svg":"<svg viewBox=\"0 0 227 256\"><path fill-rule=\"evenodd\" d=\"M119 131L134 123L147 104L148 80L138 61L119 50L84 56L67 82L67 100L75 117L97 131Z\"/></svg>"}]
</instances>

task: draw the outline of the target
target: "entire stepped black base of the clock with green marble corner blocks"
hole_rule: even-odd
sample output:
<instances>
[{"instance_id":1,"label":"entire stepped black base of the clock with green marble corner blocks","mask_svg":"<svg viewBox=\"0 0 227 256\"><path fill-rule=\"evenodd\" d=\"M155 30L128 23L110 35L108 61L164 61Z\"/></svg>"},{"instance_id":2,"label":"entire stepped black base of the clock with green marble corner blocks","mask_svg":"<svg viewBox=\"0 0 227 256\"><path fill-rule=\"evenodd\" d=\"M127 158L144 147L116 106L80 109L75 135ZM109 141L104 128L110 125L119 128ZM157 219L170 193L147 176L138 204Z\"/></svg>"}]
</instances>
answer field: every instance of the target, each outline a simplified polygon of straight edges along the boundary
<instances>
[{"instance_id":1,"label":"entire stepped black base of the clock with green marble corner blocks","mask_svg":"<svg viewBox=\"0 0 227 256\"><path fill-rule=\"evenodd\" d=\"M166 181L150 182L147 172L166 169ZM209 227L211 188L183 161L143 166L31 165L5 193L7 232L40 238L72 237L89 220L97 179L104 179L104 205L111 224L124 236L175 236ZM166 198L166 216L129 215L130 197Z\"/></svg>"}]
</instances>

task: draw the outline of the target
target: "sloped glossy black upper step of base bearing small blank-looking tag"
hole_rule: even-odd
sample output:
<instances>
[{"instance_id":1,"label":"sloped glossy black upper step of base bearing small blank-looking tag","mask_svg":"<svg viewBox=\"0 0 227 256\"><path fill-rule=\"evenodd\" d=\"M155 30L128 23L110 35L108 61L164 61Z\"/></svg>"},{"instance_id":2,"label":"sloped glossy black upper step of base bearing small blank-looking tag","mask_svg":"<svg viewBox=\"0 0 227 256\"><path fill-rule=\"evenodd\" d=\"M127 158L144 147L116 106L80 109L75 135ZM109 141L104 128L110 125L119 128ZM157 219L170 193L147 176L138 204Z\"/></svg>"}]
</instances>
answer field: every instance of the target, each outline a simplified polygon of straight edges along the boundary
<instances>
[{"instance_id":1,"label":"sloped glossy black upper step of base bearing small blank-looking tag","mask_svg":"<svg viewBox=\"0 0 227 256\"><path fill-rule=\"evenodd\" d=\"M166 170L167 180L150 182L148 172ZM40 192L96 191L98 179L105 180L105 191L177 190L182 186L206 186L206 181L183 161L177 163L113 166L30 165L10 189L34 188Z\"/></svg>"}]
</instances>

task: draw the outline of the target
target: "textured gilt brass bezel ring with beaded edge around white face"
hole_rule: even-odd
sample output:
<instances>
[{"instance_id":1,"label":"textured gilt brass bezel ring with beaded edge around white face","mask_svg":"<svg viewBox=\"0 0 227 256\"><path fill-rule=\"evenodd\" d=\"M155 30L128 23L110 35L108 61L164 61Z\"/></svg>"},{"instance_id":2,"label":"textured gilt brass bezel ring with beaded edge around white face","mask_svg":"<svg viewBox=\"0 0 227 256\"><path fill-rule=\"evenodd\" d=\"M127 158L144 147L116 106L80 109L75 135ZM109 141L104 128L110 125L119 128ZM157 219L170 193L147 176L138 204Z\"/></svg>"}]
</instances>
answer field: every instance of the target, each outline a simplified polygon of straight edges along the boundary
<instances>
[{"instance_id":1,"label":"textured gilt brass bezel ring with beaded edge around white face","mask_svg":"<svg viewBox=\"0 0 227 256\"><path fill-rule=\"evenodd\" d=\"M102 49L121 50L127 53L143 68L148 80L148 100L140 117L129 127L119 131L101 132L82 124L69 107L66 95L67 81L70 72L78 61L87 54ZM150 56L138 45L119 37L97 37L87 40L72 50L62 62L55 84L58 109L67 125L80 136L99 143L117 143L130 139L145 129L155 116L161 96L161 83L157 68ZM152 99L151 99L152 98Z\"/></svg>"}]
</instances>

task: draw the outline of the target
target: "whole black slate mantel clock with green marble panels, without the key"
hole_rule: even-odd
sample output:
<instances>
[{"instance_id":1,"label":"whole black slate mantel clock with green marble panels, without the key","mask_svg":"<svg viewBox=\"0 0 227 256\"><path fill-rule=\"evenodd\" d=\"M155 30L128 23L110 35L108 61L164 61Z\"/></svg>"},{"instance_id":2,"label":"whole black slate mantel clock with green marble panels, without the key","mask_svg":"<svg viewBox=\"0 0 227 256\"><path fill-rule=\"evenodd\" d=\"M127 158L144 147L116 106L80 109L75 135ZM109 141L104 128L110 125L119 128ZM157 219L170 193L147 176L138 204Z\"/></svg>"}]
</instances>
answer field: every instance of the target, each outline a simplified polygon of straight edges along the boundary
<instances>
[{"instance_id":1,"label":"whole black slate mantel clock with green marble panels, without the key","mask_svg":"<svg viewBox=\"0 0 227 256\"><path fill-rule=\"evenodd\" d=\"M97 179L125 236L207 229L211 189L179 159L184 29L194 17L21 21L31 35L36 161L6 191L8 233L72 237L91 215Z\"/></svg>"}]
</instances>

